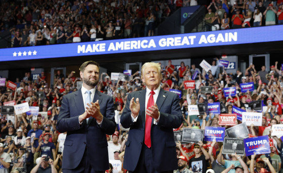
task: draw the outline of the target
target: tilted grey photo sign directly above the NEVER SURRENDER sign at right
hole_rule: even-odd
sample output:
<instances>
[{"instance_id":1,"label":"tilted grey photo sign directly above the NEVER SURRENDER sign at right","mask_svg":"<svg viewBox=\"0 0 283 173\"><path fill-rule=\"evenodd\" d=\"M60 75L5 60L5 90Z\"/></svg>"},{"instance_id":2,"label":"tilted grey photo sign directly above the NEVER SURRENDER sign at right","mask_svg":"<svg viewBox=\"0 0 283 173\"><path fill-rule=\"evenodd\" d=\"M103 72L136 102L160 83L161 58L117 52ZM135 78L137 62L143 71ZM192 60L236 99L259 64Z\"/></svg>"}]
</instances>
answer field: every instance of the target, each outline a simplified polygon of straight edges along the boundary
<instances>
[{"instance_id":1,"label":"tilted grey photo sign directly above the NEVER SURRENDER sign at right","mask_svg":"<svg viewBox=\"0 0 283 173\"><path fill-rule=\"evenodd\" d=\"M232 126L229 129L225 130L226 135L229 138L248 138L249 137L249 130L245 123L241 123L236 126Z\"/></svg>"}]
</instances>

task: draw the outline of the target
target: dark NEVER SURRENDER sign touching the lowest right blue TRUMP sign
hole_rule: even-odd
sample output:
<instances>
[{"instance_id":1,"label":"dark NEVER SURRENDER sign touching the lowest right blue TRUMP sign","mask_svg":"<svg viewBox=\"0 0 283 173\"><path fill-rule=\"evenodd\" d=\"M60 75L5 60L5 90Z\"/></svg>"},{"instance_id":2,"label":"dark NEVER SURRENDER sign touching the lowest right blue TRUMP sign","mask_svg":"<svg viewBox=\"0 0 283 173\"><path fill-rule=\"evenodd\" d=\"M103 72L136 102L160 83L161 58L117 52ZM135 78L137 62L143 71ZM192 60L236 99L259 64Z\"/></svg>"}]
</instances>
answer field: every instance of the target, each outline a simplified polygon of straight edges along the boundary
<instances>
[{"instance_id":1,"label":"dark NEVER SURRENDER sign touching the lowest right blue TRUMP sign","mask_svg":"<svg viewBox=\"0 0 283 173\"><path fill-rule=\"evenodd\" d=\"M244 139L224 138L222 153L245 155Z\"/></svg>"}]
</instances>

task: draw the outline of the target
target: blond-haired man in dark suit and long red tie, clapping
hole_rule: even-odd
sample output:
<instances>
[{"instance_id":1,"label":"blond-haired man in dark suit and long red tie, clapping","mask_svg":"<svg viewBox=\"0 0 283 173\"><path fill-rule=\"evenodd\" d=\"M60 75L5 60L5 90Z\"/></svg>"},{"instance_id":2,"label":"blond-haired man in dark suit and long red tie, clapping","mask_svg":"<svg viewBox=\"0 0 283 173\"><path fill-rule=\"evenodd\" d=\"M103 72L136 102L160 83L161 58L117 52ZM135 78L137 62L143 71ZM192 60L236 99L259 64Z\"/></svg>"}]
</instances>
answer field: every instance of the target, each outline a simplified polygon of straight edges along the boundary
<instances>
[{"instance_id":1,"label":"blond-haired man in dark suit and long red tie, clapping","mask_svg":"<svg viewBox=\"0 0 283 173\"><path fill-rule=\"evenodd\" d=\"M161 89L159 64L144 64L141 78L147 88L128 94L121 116L121 125L130 128L124 168L129 172L173 172L178 168L173 128L183 121L179 97Z\"/></svg>"}]
</instances>

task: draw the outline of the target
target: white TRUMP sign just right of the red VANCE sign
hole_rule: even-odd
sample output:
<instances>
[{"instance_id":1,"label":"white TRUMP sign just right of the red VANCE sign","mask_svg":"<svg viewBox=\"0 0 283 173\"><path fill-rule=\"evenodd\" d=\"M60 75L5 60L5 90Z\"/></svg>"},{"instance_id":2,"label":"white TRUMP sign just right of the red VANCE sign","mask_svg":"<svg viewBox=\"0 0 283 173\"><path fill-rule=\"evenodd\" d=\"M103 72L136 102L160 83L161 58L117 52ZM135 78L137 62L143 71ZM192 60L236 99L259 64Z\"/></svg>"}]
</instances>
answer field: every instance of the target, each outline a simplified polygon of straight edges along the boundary
<instances>
[{"instance_id":1,"label":"white TRUMP sign just right of the red VANCE sign","mask_svg":"<svg viewBox=\"0 0 283 173\"><path fill-rule=\"evenodd\" d=\"M262 126L262 113L261 112L243 112L242 122L247 126Z\"/></svg>"}]
</instances>

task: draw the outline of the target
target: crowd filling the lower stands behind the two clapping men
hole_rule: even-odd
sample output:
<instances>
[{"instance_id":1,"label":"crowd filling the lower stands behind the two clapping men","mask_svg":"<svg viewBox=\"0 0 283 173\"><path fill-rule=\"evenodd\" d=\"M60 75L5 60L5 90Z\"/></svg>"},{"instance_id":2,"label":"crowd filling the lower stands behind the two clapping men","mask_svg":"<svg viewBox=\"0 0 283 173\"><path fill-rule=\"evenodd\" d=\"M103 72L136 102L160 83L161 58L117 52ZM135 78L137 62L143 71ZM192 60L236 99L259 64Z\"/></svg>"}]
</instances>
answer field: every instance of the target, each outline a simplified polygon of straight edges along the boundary
<instances>
[{"instance_id":1,"label":"crowd filling the lower stands behind the two clapping men","mask_svg":"<svg viewBox=\"0 0 283 173\"><path fill-rule=\"evenodd\" d=\"M199 103L223 102L232 113L232 106L248 110L249 102L262 100L267 110L262 112L262 126L248 126L250 134L255 136L268 135L273 139L274 147L271 153L262 155L239 156L237 154L222 154L223 143L216 141L199 141L198 143L176 142L176 157L178 169L174 172L275 172L272 160L277 161L277 172L282 172L281 159L283 159L283 143L280 137L271 136L272 125L282 124L282 69L278 68L278 62L266 71L262 66L261 71L256 71L254 65L250 65L243 74L238 70L235 74L227 74L225 69L219 66L219 60L211 62L211 69L206 72L196 65L172 65L168 61L162 66L161 88L164 90L180 90L181 98L179 106L182 110L184 121L175 130L183 128L205 129L205 127L219 126L219 114L203 114L201 116L188 116L188 105ZM184 89L184 81L192 80L195 72L199 72L195 79L195 89ZM8 81L8 80L7 80ZM27 102L29 106L38 106L38 114L28 112L21 114L1 114L1 143L0 143L0 172L61 172L64 142L67 135L59 133L56 129L58 114L60 112L63 96L78 90L77 82L80 78L71 72L64 76L58 71L54 78L54 86L45 81L44 72L36 80L30 78L30 72L23 79L17 79L15 91L9 87L0 87L0 105L8 101L15 104ZM242 93L240 84L252 82L254 90ZM201 93L201 87L212 86L211 93ZM234 97L224 97L223 88L236 87ZM145 83L136 72L129 76L129 80L111 80L107 73L102 73L96 89L113 97L115 107L116 131L113 135L107 135L108 154L110 163L113 160L123 164L125 144L128 139L128 130L121 126L120 117L125 108L129 93L144 90ZM43 92L40 97L38 92ZM237 121L241 124L241 121ZM224 126L222 126L224 127ZM230 126L225 126L229 128ZM199 167L196 166L196 162ZM116 162L115 162L116 163ZM193 164L194 163L194 164ZM201 167L200 167L201 165ZM110 165L110 168L113 168ZM119 172L126 172L121 169ZM108 170L112 172L112 170Z\"/></svg>"}]
</instances>

